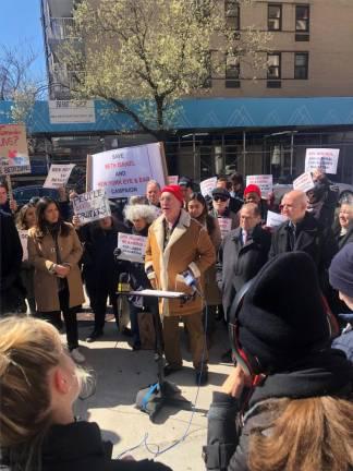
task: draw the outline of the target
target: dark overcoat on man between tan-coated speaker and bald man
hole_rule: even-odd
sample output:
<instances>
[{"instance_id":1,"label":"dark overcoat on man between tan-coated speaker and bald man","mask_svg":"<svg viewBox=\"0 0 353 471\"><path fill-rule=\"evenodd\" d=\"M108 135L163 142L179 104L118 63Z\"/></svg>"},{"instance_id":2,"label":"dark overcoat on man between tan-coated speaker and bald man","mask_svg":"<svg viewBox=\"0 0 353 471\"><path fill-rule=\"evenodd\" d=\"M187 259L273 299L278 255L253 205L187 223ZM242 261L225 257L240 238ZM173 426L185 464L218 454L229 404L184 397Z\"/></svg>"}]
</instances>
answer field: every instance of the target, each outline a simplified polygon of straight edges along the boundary
<instances>
[{"instance_id":1,"label":"dark overcoat on man between tan-coated speaker and bald man","mask_svg":"<svg viewBox=\"0 0 353 471\"><path fill-rule=\"evenodd\" d=\"M236 292L266 264L270 245L271 234L260 226L254 228L245 245L241 228L232 230L223 239L218 252L216 280L222 292L226 318Z\"/></svg>"}]
</instances>

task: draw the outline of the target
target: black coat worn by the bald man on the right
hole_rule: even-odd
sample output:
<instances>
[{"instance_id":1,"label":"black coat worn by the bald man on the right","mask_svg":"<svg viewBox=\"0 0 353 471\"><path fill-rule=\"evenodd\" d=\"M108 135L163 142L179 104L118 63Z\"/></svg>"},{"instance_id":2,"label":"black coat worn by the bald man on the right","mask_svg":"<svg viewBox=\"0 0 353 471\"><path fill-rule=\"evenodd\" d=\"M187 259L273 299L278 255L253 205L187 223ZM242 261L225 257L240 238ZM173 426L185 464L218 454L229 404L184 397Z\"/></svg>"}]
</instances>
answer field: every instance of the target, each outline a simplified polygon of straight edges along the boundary
<instances>
[{"instance_id":1,"label":"black coat worn by the bald man on the right","mask_svg":"<svg viewBox=\"0 0 353 471\"><path fill-rule=\"evenodd\" d=\"M324 228L309 213L305 214L304 219L296 227L297 235L293 252L306 252L313 258L319 274L321 289L327 291L327 269L338 252L333 232L330 227ZM272 234L269 258L291 252L289 230L288 221L276 229Z\"/></svg>"}]
</instances>

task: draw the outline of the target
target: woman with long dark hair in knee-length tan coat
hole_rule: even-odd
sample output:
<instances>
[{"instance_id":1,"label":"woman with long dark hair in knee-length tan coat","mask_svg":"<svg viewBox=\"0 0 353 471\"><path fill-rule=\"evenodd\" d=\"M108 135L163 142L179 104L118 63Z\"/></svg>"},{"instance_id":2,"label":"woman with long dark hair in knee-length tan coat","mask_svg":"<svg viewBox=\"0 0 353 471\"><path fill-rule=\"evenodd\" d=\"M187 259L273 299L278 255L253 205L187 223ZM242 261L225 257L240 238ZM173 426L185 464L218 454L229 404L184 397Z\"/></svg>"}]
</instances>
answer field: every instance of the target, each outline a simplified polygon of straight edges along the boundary
<instances>
[{"instance_id":1,"label":"woman with long dark hair in knee-length tan coat","mask_svg":"<svg viewBox=\"0 0 353 471\"><path fill-rule=\"evenodd\" d=\"M73 360L85 361L78 350L77 310L85 302L78 262L83 249L75 229L64 222L59 205L49 197L37 203L36 225L28 231L28 262L35 267L37 311L59 329L63 314Z\"/></svg>"}]
</instances>

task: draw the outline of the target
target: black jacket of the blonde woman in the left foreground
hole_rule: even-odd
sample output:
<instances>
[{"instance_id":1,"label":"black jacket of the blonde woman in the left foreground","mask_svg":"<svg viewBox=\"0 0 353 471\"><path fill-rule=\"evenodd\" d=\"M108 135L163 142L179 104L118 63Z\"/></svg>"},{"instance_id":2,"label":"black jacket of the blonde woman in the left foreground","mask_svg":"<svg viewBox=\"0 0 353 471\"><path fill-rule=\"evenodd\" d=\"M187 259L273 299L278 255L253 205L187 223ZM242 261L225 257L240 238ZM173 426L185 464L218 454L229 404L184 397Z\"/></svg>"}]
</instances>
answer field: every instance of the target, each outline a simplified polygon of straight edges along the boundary
<instances>
[{"instance_id":1,"label":"black jacket of the blonde woman in the left foreground","mask_svg":"<svg viewBox=\"0 0 353 471\"><path fill-rule=\"evenodd\" d=\"M54 425L44 443L42 471L171 471L150 460L114 460L111 452L112 444L102 442L96 423Z\"/></svg>"}]
</instances>

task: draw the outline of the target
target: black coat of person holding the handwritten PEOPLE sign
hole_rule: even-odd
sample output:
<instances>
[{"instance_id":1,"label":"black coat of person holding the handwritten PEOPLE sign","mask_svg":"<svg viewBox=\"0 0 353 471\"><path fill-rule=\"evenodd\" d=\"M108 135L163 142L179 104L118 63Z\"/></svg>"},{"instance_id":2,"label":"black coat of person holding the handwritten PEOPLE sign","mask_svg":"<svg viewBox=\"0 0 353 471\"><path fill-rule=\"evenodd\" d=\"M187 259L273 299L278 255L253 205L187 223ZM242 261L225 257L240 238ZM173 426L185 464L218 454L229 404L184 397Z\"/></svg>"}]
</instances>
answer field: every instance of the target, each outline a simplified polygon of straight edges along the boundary
<instances>
[{"instance_id":1,"label":"black coat of person holding the handwritten PEOPLE sign","mask_svg":"<svg viewBox=\"0 0 353 471\"><path fill-rule=\"evenodd\" d=\"M88 224L78 231L84 243L83 278L88 292L90 289L117 290L119 271L114 263L114 249L118 246L118 233L127 233L122 222L113 219L113 226L104 230L97 222Z\"/></svg>"}]
</instances>

